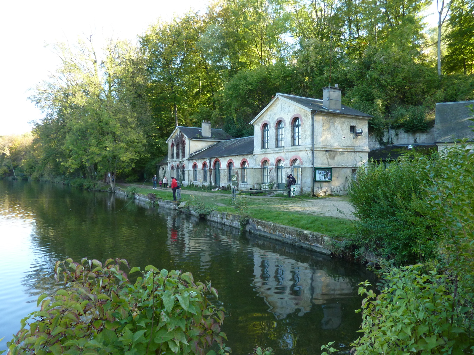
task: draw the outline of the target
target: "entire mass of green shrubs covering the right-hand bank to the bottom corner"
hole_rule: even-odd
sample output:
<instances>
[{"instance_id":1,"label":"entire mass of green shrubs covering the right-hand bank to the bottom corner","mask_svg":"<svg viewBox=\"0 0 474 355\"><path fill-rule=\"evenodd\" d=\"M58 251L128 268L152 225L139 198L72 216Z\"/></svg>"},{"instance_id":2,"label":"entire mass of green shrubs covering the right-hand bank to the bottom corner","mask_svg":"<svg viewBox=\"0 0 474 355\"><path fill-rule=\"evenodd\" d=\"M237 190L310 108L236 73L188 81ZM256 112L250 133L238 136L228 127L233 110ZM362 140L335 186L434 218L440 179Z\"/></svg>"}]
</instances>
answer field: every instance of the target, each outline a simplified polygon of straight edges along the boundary
<instances>
[{"instance_id":1,"label":"entire mass of green shrubs covering the right-hand bank to the bottom corner","mask_svg":"<svg viewBox=\"0 0 474 355\"><path fill-rule=\"evenodd\" d=\"M354 353L473 354L474 151L464 142L386 168L371 163L350 193L361 219L353 242L387 259L380 294L359 288L367 297Z\"/></svg>"}]
</instances>

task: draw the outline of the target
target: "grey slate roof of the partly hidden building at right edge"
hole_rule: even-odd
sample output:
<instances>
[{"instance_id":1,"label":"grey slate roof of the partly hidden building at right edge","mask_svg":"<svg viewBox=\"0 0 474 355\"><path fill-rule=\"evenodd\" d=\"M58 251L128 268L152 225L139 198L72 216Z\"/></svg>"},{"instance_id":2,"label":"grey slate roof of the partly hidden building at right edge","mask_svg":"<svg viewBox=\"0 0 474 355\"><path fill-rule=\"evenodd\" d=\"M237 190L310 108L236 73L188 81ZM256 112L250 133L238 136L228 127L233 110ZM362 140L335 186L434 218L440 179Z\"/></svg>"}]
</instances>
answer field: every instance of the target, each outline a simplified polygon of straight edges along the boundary
<instances>
[{"instance_id":1,"label":"grey slate roof of the partly hidden building at right edge","mask_svg":"<svg viewBox=\"0 0 474 355\"><path fill-rule=\"evenodd\" d=\"M436 104L435 142L454 142L457 139L474 139L474 122L471 111L466 107L474 101L441 102Z\"/></svg>"}]
</instances>

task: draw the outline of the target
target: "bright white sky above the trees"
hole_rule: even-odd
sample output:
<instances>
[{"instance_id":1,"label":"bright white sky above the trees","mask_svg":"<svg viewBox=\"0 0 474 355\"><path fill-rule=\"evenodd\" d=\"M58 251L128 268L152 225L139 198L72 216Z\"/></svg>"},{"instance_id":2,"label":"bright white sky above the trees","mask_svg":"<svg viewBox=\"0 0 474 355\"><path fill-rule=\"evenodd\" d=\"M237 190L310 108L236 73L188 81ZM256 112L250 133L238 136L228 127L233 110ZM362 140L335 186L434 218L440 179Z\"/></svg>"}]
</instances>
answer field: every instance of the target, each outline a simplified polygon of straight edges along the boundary
<instances>
[{"instance_id":1,"label":"bright white sky above the trees","mask_svg":"<svg viewBox=\"0 0 474 355\"><path fill-rule=\"evenodd\" d=\"M4 1L0 13L3 69L0 86L0 135L31 129L41 112L29 100L37 83L54 72L58 61L46 44L76 41L94 34L96 43L112 35L135 40L158 18L169 19L189 9L202 10L208 0L44 0ZM436 13L436 1L429 13ZM436 25L436 16L427 20ZM96 45L97 46L97 45Z\"/></svg>"}]
</instances>

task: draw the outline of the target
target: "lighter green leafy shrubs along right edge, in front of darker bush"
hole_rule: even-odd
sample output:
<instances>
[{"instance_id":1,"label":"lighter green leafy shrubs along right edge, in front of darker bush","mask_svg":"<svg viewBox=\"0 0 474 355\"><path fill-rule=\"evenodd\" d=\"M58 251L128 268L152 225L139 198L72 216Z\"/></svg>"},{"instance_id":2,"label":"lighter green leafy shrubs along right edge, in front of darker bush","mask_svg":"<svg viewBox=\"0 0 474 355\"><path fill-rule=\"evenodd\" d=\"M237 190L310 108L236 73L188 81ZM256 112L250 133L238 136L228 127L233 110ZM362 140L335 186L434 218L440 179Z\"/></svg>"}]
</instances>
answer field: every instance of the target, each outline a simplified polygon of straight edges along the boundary
<instances>
[{"instance_id":1,"label":"lighter green leafy shrubs along right edge, in front of darker bush","mask_svg":"<svg viewBox=\"0 0 474 355\"><path fill-rule=\"evenodd\" d=\"M474 151L464 141L424 164L412 169L428 177L423 201L437 224L436 258L385 269L376 297L362 284L356 355L474 352Z\"/></svg>"}]
</instances>

